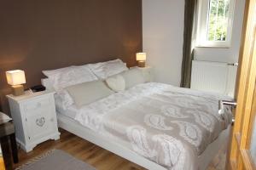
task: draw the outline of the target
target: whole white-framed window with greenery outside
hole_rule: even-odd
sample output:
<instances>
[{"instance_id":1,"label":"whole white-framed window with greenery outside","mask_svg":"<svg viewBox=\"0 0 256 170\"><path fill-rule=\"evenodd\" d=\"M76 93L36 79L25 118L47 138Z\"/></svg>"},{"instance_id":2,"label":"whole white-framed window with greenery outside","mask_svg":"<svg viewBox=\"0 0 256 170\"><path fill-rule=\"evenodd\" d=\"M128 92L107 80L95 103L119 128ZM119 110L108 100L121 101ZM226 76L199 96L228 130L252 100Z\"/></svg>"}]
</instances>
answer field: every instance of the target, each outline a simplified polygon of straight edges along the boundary
<instances>
[{"instance_id":1,"label":"whole white-framed window with greenery outside","mask_svg":"<svg viewBox=\"0 0 256 170\"><path fill-rule=\"evenodd\" d=\"M201 0L196 43L199 47L230 47L235 0Z\"/></svg>"}]
</instances>

